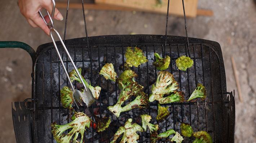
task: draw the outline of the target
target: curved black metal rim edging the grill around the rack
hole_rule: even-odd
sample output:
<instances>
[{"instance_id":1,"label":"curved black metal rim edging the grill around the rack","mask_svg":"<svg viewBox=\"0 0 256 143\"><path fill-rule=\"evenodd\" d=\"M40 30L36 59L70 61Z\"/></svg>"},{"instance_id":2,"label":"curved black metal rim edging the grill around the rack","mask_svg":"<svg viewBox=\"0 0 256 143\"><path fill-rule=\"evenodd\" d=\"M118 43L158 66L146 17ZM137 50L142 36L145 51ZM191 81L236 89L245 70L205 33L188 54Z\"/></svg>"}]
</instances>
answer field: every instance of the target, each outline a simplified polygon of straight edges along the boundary
<instances>
[{"instance_id":1,"label":"curved black metal rim edging the grill around the rack","mask_svg":"<svg viewBox=\"0 0 256 143\"><path fill-rule=\"evenodd\" d=\"M86 37L83 37L83 38L75 38L75 39L68 39L68 40L65 40L66 44L69 45L69 46L75 46L76 44L87 44L86 42ZM134 43L140 43L140 45L142 45L143 43L145 44L152 44L153 45L156 45L156 44L163 44L165 42L165 35L102 35L102 36L95 36L95 37L88 37L89 38L89 43L90 45L93 45L93 44L97 44L99 45L102 44L101 46L108 46L108 43L109 44L116 44L116 46L124 46L124 41L126 41L125 44L127 44L127 46L131 45L131 44L134 44ZM153 39L160 39L158 40L157 42ZM117 42L114 42L113 41L117 41ZM128 42L127 42L128 41ZM147 41L150 41L150 42L147 42ZM189 38L189 41L190 41L190 44L189 45L193 45L193 44L204 44L205 46L211 48L215 53L216 55L218 56L218 59L219 59L219 63L220 63L220 71L221 71L221 84L222 84L222 96L224 94L229 94L229 95L233 95L232 92L226 92L226 76L225 76L225 68L224 68L224 61L223 61L223 58L222 58L222 52L221 52L221 48L220 48L220 44L215 42L215 41L211 41L211 40L205 40L205 39L198 39L198 38ZM129 43L130 42L130 43ZM107 44L106 44L107 43ZM184 43L184 44L180 44L180 45L186 45L186 37L180 37L180 36L168 36L167 37L167 43L171 43L171 44L167 44L167 45L172 45L172 44L176 44L176 43ZM61 43L58 41L57 42L57 45L60 45ZM84 47L87 47L87 46L84 46ZM91 48L94 47L94 46L90 46ZM98 47L98 46L96 46ZM111 46L112 47L112 46ZM32 99L35 98L35 71L36 71L36 63L37 63L37 59L40 57L41 53L43 53L44 51L46 50L49 50L49 49L53 49L53 44L52 43L46 43L46 44L42 44L40 45L38 48L37 48L37 51L36 51L36 61L35 61L35 64L33 65L33 73L32 75L32 79L34 79L32 81ZM187 48L187 47L186 47ZM224 86L225 85L225 86ZM231 94L230 94L231 93ZM34 103L34 100L32 100L32 102ZM224 103L223 103L224 104ZM230 103L229 103L229 109L231 107L234 107L234 96L230 96ZM35 111L35 104L34 105L34 111ZM229 115L233 115L234 117L234 109L229 110ZM33 114L33 116L35 115L35 113ZM33 125L35 125L35 118L33 117ZM231 120L230 120L231 119ZM235 121L235 118L230 118L229 117L229 129L231 129L231 134L233 133L234 134L234 121ZM34 131L35 131L35 126L33 127L34 128ZM35 137L35 132L33 133L33 136ZM229 135L230 133L228 133ZM228 136L229 137L229 136ZM34 138L35 139L35 138ZM225 141L226 142L226 141ZM234 142L234 136L231 136L229 137L229 140L228 142Z\"/></svg>"}]
</instances>

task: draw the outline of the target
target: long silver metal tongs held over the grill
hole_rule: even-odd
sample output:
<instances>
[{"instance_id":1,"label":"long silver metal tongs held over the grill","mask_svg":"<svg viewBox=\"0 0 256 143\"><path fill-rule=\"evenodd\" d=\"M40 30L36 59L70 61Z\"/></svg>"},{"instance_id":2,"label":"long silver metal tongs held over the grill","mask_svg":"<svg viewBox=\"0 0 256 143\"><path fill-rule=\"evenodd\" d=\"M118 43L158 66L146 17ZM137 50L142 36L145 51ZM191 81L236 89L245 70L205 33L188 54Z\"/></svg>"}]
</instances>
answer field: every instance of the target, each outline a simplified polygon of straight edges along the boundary
<instances>
[{"instance_id":1,"label":"long silver metal tongs held over the grill","mask_svg":"<svg viewBox=\"0 0 256 143\"><path fill-rule=\"evenodd\" d=\"M57 30L54 29L52 17L54 16L54 11L55 11L56 4L55 4L55 1L54 1L54 0L52 0L52 3L53 3L52 15L50 15L50 13L46 10L46 12L47 12L47 14L48 14L48 16L49 16L49 19L50 19L50 25L47 24L47 22L46 22L46 20L44 19L44 16L42 15L42 13L41 13L40 10L39 10L39 14L40 14L40 16L43 18L44 23L45 23L45 24L49 27L49 29L50 29L50 37L52 38L52 42L53 42L54 47L55 47L55 49L56 49L56 51L57 51L59 60L61 61L61 64L62 64L62 66L63 66L63 68L64 68L64 71L65 71L65 73L66 73L66 75L67 75L67 78L69 79L69 83L70 83L71 88L72 88L72 91L73 91L73 99L74 99L74 102L75 102L77 108L79 109L78 104L82 105L82 103L83 103L83 102L81 101L81 99L84 101L84 103L87 105L87 107L89 107L89 106L91 106L91 105L94 103L95 99L94 99L94 97L93 97L93 95L92 95L92 91L91 91L89 88L88 88L88 89L86 88L86 86L85 86L85 84L84 84L84 81L83 81L83 79L82 79L80 73L78 72L78 69L77 69L76 66L75 66L75 63L73 62L73 60L72 60L72 58L71 58L71 56L70 56L70 54L69 54L69 51L67 51L67 48L66 48L65 44L63 43L63 41L62 41L62 39L61 39L61 36L60 36L59 33L57 32ZM59 53L58 47L57 47L56 42L55 42L55 40L54 40L54 38L53 38L53 35L52 35L53 32L55 32L55 33L58 35L58 38L59 38L59 40L60 40L60 42L61 42L63 48L65 49L65 52L67 53L67 56L69 57L69 59L70 59L72 65L73 65L73 67L74 67L76 73L78 74L78 76L79 76L79 78L80 78L80 80L81 80L81 82L82 82L82 84L83 84L83 86L84 86L84 92L83 92L83 94L82 94L79 90L74 89L74 86L73 86L73 84L72 84L72 82L71 82L71 80L70 80L70 77L69 77L69 73L67 72L67 70L66 70L66 68L65 68L65 65L64 65L64 63L63 63L63 61L62 61L62 58L61 58L61 55L60 55L60 53Z\"/></svg>"}]
</instances>

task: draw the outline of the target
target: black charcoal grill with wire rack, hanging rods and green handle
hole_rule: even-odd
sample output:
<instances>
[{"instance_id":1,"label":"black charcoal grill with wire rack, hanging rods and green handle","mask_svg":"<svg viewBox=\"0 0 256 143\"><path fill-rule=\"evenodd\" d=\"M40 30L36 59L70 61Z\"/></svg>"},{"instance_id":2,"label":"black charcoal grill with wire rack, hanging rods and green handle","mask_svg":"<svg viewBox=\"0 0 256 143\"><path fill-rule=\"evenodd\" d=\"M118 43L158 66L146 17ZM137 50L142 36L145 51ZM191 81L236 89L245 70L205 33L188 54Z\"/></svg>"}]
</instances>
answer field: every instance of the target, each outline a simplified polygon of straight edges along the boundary
<instances>
[{"instance_id":1,"label":"black charcoal grill with wire rack, hanging rods and green handle","mask_svg":"<svg viewBox=\"0 0 256 143\"><path fill-rule=\"evenodd\" d=\"M183 0L182 0L183 2ZM69 1L68 1L69 3ZM83 4L83 0L82 0ZM184 4L184 3L183 3ZM68 5L69 6L69 5ZM184 5L183 5L184 8ZM169 1L168 1L169 9ZM84 7L83 7L84 12ZM68 7L67 7L68 14ZM84 13L83 13L84 14ZM186 16L184 10L185 28ZM85 14L84 14L85 22ZM67 16L66 16L67 24ZM128 118L140 124L140 115L148 113L152 122L157 123L157 102L150 103L146 109L133 109L121 113L119 118L110 113L107 106L114 105L119 93L117 85L112 81L106 81L98 74L101 67L111 62L115 71L122 73L124 70L124 52L128 46L138 46L146 54L148 62L138 68L132 68L138 74L137 82L144 86L144 92L150 94L151 85L156 80L157 70L152 63L155 61L154 52L162 54L163 57L171 57L171 64L167 71L171 72L184 92L185 99L191 95L197 83L202 83L207 89L207 98L204 101L171 103L169 106L171 114L159 123L159 132L173 128L180 132L180 123L189 123L195 131L205 130L213 138L215 143L234 142L234 120L235 103L234 92L226 91L226 77L224 62L219 43L187 37L167 35L168 13L165 35L105 35L88 37L85 22L86 37L65 40L71 57L77 67L83 69L84 77L93 86L102 87L100 97L96 103L87 108L80 106L76 111L83 111L93 118L94 115L110 116L112 123L105 132L97 133L90 128L85 133L86 143L108 143L116 130L124 124ZM63 53L62 45L57 42L59 51ZM23 48L31 56L32 68L32 97L22 102L14 102L12 108L13 124L18 143L53 143L50 124L69 123L69 109L62 107L60 103L60 89L68 86L61 63L57 57L53 43L39 46L35 52L30 46L21 42L0 42L0 47ZM186 72L178 70L175 60L186 55L194 60L193 67ZM63 62L68 71L72 65L66 54L62 54ZM149 132L139 133L140 143L149 143ZM185 138L184 143L192 142L193 138ZM159 141L162 142L162 141Z\"/></svg>"}]
</instances>

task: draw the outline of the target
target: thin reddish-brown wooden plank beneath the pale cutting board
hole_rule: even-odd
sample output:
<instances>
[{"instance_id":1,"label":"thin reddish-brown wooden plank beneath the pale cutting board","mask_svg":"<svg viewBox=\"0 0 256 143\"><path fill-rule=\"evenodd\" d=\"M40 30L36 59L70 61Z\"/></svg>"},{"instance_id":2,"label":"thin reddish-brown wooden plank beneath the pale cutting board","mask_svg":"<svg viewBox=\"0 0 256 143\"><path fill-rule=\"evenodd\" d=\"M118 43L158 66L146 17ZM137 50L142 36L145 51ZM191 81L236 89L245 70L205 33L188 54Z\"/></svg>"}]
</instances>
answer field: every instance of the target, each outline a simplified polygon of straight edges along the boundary
<instances>
[{"instance_id":1,"label":"thin reddish-brown wooden plank beneath the pale cutting board","mask_svg":"<svg viewBox=\"0 0 256 143\"><path fill-rule=\"evenodd\" d=\"M67 8L67 3L63 2L56 2L57 8ZM136 8L130 8L130 7L124 7L124 6L115 6L115 5L108 5L108 4L84 4L85 9L88 10L122 10L122 11L145 11L142 9L136 9ZM82 5L81 3L70 3L69 8L71 9L81 9ZM147 11L147 12L153 12L153 13L160 13L160 14L166 14L159 11ZM186 13L187 15L187 13ZM205 9L198 9L197 15L204 15L204 16L212 16L213 12L211 10L205 10ZM183 12L182 15L183 16Z\"/></svg>"}]
</instances>

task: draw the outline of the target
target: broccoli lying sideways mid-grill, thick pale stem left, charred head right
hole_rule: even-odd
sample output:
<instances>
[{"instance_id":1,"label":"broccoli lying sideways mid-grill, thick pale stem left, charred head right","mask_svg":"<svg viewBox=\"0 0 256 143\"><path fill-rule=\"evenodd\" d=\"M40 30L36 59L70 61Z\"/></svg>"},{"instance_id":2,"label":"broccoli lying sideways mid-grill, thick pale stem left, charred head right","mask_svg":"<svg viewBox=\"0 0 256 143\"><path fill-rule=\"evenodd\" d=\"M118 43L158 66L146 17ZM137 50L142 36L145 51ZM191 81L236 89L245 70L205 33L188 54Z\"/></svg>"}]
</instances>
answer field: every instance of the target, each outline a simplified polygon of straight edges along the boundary
<instances>
[{"instance_id":1,"label":"broccoli lying sideways mid-grill, thick pale stem left, charred head right","mask_svg":"<svg viewBox=\"0 0 256 143\"><path fill-rule=\"evenodd\" d=\"M121 97L121 98L126 99L125 97ZM120 99L120 96L119 96L119 99ZM121 106L123 104L123 102L125 101L122 99L120 100L122 102L118 102L114 106L107 107L117 117L119 117L120 113L122 113L122 112L129 111L134 108L145 108L149 104L149 97L144 92L138 93L137 97L133 101L131 101L130 103L125 105L124 107Z\"/></svg>"}]
</instances>

